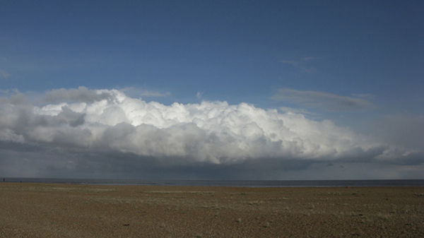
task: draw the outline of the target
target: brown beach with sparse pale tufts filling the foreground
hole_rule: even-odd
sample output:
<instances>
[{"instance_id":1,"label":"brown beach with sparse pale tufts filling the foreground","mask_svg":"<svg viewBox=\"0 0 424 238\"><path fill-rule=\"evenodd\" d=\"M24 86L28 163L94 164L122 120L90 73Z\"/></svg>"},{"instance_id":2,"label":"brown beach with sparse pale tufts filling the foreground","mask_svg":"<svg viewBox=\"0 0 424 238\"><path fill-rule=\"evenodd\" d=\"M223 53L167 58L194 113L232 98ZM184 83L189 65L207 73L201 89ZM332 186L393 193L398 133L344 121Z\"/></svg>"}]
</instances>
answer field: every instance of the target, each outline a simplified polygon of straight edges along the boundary
<instances>
[{"instance_id":1,"label":"brown beach with sparse pale tufts filling the foreground","mask_svg":"<svg viewBox=\"0 0 424 238\"><path fill-rule=\"evenodd\" d=\"M0 183L0 237L424 237L424 187Z\"/></svg>"}]
</instances>

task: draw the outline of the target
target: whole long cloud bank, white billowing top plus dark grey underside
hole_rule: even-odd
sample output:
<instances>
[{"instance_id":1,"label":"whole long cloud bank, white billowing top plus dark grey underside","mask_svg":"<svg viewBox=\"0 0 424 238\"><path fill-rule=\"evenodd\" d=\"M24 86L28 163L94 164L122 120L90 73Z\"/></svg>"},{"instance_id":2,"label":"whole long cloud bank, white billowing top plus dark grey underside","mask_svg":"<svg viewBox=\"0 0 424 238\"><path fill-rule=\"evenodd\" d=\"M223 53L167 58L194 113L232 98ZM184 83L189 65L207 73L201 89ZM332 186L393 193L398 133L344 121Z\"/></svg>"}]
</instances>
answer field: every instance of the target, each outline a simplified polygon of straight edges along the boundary
<instances>
[{"instance_id":1,"label":"whole long cloud bank, white billowing top plus dark grey underside","mask_svg":"<svg viewBox=\"0 0 424 238\"><path fill-rule=\"evenodd\" d=\"M32 173L39 174L161 171L187 177L264 174L326 161L422 162L422 153L391 148L331 121L245 103L162 105L119 90L82 87L53 90L46 98L42 106L0 100L4 167L37 164Z\"/></svg>"}]
</instances>

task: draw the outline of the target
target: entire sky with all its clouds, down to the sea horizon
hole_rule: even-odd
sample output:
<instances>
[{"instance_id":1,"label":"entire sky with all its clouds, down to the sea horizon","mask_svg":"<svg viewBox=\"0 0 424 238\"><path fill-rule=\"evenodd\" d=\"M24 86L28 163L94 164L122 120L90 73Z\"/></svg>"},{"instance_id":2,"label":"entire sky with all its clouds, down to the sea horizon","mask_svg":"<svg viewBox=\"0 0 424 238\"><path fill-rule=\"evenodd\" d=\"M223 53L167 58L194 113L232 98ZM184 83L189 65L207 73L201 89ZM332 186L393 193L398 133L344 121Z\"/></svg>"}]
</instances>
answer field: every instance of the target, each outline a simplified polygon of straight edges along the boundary
<instances>
[{"instance_id":1,"label":"entire sky with all its clouds, down to the sea horizon","mask_svg":"<svg viewBox=\"0 0 424 238\"><path fill-rule=\"evenodd\" d=\"M424 179L423 1L0 1L0 177Z\"/></svg>"}]
</instances>

